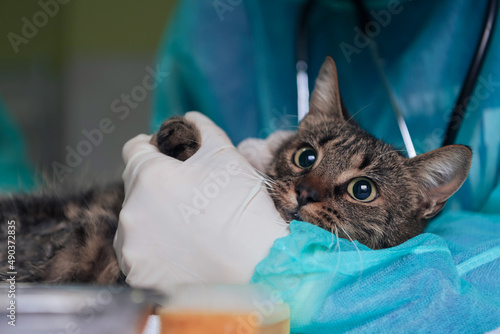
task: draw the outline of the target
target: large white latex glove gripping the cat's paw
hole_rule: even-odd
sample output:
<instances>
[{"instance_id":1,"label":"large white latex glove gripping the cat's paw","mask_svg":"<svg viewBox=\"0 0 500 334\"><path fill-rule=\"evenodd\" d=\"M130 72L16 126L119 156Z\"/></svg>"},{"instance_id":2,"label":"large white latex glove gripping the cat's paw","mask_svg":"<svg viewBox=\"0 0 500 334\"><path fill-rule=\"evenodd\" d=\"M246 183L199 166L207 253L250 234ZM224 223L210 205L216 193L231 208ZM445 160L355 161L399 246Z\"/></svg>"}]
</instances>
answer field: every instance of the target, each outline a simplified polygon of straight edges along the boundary
<instances>
[{"instance_id":1,"label":"large white latex glove gripping the cat's paw","mask_svg":"<svg viewBox=\"0 0 500 334\"><path fill-rule=\"evenodd\" d=\"M262 178L206 116L185 116L201 147L184 162L139 135L125 144L125 201L114 248L127 282L168 291L188 282L247 283L289 234Z\"/></svg>"}]
</instances>

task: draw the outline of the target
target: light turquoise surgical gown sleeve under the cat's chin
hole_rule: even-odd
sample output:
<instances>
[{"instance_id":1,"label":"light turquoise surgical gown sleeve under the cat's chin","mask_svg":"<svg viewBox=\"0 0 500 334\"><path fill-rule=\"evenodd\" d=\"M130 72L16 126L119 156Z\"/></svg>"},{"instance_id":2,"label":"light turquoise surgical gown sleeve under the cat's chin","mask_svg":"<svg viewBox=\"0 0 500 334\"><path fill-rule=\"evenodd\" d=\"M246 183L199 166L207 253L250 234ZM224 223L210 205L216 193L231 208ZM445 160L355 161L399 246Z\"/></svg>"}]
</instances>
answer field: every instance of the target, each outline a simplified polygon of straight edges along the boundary
<instances>
[{"instance_id":1,"label":"light turquoise surgical gown sleeve under the cat's chin","mask_svg":"<svg viewBox=\"0 0 500 334\"><path fill-rule=\"evenodd\" d=\"M252 281L290 305L292 333L484 333L500 326L499 224L447 214L432 231L446 239L371 250L294 221Z\"/></svg>"}]
</instances>

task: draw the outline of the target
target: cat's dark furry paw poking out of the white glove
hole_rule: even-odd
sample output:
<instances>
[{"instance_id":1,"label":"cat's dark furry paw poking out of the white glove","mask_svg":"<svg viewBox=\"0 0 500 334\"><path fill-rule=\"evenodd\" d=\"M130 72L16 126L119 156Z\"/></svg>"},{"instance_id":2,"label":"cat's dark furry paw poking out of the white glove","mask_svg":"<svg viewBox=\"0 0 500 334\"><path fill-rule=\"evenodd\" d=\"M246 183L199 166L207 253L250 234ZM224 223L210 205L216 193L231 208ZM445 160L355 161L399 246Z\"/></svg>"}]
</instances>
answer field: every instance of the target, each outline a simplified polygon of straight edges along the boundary
<instances>
[{"instance_id":1,"label":"cat's dark furry paw poking out of the white glove","mask_svg":"<svg viewBox=\"0 0 500 334\"><path fill-rule=\"evenodd\" d=\"M198 128L184 117L173 117L161 125L151 142L161 153L185 161L200 148L201 135Z\"/></svg>"}]
</instances>

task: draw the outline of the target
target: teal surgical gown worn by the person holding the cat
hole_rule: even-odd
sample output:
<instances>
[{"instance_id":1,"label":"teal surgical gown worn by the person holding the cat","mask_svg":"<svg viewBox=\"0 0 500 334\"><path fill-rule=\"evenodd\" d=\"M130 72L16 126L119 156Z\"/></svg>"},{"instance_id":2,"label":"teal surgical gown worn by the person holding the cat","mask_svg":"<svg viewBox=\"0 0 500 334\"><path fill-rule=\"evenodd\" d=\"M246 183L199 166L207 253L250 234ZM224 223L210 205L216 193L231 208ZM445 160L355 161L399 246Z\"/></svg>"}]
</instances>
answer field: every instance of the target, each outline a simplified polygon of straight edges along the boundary
<instances>
[{"instance_id":1,"label":"teal surgical gown worn by the person holding the cat","mask_svg":"<svg viewBox=\"0 0 500 334\"><path fill-rule=\"evenodd\" d=\"M178 2L158 54L169 73L152 128L189 110L237 144L297 124L297 26L304 0ZM365 0L370 37L417 154L441 146L481 37L487 1ZM498 15L498 13L495 13ZM327 55L343 101L376 137L404 148L354 1L317 1L306 16L309 90ZM366 22L366 21L365 21ZM500 326L500 25L496 25L457 144L469 177L426 234L370 250L292 222L253 282L280 291L292 332L469 332ZM366 37L366 36L365 36Z\"/></svg>"}]
</instances>

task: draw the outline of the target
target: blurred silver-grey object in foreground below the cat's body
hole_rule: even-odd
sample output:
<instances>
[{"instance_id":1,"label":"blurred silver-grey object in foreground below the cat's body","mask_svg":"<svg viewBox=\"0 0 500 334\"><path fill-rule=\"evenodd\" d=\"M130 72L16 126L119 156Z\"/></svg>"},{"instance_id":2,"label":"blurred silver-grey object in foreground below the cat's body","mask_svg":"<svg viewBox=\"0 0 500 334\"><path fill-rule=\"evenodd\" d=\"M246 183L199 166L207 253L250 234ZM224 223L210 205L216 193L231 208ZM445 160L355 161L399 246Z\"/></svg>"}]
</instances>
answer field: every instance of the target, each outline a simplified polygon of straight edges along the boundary
<instances>
[{"instance_id":1,"label":"blurred silver-grey object in foreground below the cat's body","mask_svg":"<svg viewBox=\"0 0 500 334\"><path fill-rule=\"evenodd\" d=\"M0 333L140 333L161 299L125 286L2 284Z\"/></svg>"}]
</instances>

